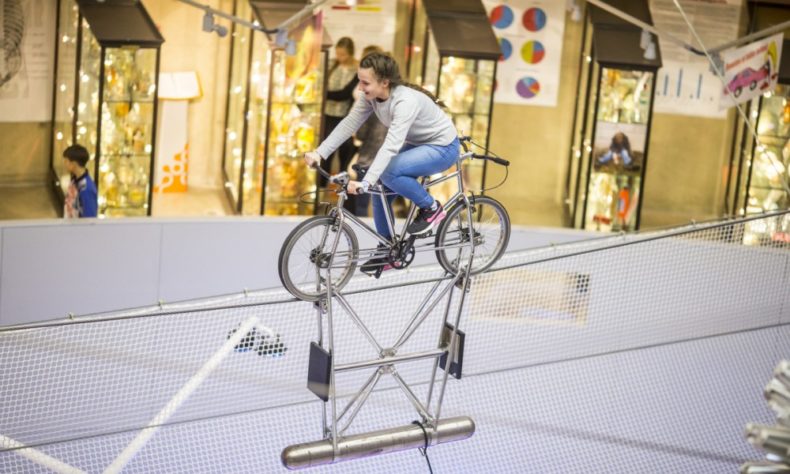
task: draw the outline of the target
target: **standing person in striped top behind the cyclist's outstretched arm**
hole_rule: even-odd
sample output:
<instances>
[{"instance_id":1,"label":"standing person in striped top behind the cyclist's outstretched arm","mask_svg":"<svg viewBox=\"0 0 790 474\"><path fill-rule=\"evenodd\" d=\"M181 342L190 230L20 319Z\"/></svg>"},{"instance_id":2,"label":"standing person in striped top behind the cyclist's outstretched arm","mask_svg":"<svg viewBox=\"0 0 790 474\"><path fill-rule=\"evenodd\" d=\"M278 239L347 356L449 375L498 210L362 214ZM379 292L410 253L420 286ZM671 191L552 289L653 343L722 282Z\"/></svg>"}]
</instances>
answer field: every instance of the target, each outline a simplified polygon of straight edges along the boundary
<instances>
[{"instance_id":1,"label":"standing person in striped top behind the cyclist's outstretched arm","mask_svg":"<svg viewBox=\"0 0 790 474\"><path fill-rule=\"evenodd\" d=\"M354 59L354 40L344 36L335 45L335 59L329 67L327 79L326 105L324 106L324 131L321 141L332 133L343 118L348 114L354 101L354 88L358 83L357 61ZM334 153L332 154L334 156ZM332 156L321 163L327 173L331 173ZM337 157L340 160L340 170L348 168L351 158L354 157L354 142L349 137L337 148ZM326 179L319 177L321 187L326 186Z\"/></svg>"}]
</instances>

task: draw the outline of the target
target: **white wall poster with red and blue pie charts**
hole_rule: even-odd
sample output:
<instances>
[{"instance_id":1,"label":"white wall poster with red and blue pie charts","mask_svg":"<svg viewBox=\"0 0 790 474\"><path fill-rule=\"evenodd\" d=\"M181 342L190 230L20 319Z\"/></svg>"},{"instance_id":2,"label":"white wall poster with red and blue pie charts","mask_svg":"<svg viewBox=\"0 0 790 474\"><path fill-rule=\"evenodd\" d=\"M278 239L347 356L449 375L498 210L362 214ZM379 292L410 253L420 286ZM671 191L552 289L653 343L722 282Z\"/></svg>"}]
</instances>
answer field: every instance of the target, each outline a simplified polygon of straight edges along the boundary
<instances>
[{"instance_id":1,"label":"white wall poster with red and blue pie charts","mask_svg":"<svg viewBox=\"0 0 790 474\"><path fill-rule=\"evenodd\" d=\"M494 101L555 107L560 85L565 3L498 0L483 4L502 50Z\"/></svg>"}]
</instances>

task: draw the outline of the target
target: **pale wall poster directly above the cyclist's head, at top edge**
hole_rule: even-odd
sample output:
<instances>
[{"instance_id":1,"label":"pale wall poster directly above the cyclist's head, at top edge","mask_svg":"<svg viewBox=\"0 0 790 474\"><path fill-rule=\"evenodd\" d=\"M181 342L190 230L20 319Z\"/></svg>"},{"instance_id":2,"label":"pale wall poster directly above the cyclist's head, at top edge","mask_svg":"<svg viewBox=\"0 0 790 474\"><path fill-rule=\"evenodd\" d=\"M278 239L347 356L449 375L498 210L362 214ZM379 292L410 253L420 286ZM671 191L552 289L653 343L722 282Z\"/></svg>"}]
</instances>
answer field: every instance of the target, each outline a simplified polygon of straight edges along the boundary
<instances>
[{"instance_id":1,"label":"pale wall poster directly above the cyclist's head, at top edge","mask_svg":"<svg viewBox=\"0 0 790 474\"><path fill-rule=\"evenodd\" d=\"M395 0L357 0L338 2L324 8L324 28L332 43L344 36L354 40L355 56L367 46L392 52L395 44ZM334 57L332 48L330 56Z\"/></svg>"}]
</instances>

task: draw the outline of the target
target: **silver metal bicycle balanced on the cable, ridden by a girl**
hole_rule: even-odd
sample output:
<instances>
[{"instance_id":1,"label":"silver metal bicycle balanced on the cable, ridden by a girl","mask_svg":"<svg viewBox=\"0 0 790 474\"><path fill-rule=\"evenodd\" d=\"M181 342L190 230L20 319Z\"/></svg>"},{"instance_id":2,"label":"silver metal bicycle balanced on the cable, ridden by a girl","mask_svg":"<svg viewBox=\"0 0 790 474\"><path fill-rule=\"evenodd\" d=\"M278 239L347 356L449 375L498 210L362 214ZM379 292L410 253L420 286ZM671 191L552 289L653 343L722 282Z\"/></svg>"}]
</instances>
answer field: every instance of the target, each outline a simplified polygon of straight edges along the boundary
<instances>
[{"instance_id":1,"label":"silver metal bicycle balanced on the cable, ridden by a girl","mask_svg":"<svg viewBox=\"0 0 790 474\"><path fill-rule=\"evenodd\" d=\"M471 143L469 137L461 138L464 151L459 155L453 172L428 181L428 178L422 178L422 185L426 189L453 178L458 183L458 190L445 204L446 216L436 229L432 243L424 242L424 239L431 237L433 233L419 237L406 235L406 228L416 215L414 203L409 208L406 222L399 234L394 232L393 216L386 213L390 235L393 236L387 239L343 207L348 198L347 186L351 181L348 173L341 172L332 176L320 167L317 168L330 183L338 186L337 204L327 215L311 217L299 224L285 239L278 261L283 286L299 299L317 301L326 294L326 278L321 276L322 270L330 272L332 289L339 290L348 283L361 259L386 257L386 264L402 270L411 264L416 252L421 251L434 251L442 268L453 275L466 271L464 262L470 258L470 252L470 276L489 269L507 248L510 240L510 217L499 201L473 193L467 195L461 164L466 159L489 160L503 166L509 166L510 163L496 156L472 153L467 142ZM387 196L395 194L385 191L380 183L371 186L368 192L374 198L381 199L385 209L388 209ZM373 236L379 246L360 250L357 236L349 222ZM371 276L378 278L383 267L384 264Z\"/></svg>"}]
</instances>

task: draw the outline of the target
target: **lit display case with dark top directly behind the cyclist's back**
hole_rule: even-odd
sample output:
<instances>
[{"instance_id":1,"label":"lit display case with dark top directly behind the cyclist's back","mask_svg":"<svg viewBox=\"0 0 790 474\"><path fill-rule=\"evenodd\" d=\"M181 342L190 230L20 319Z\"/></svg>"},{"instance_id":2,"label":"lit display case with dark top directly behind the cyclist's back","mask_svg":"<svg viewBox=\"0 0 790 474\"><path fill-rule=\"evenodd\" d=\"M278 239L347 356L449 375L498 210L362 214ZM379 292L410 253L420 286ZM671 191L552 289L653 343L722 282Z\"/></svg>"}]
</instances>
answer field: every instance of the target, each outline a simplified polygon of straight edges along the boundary
<instances>
[{"instance_id":1,"label":"lit display case with dark top directly behind the cyclist's back","mask_svg":"<svg viewBox=\"0 0 790 474\"><path fill-rule=\"evenodd\" d=\"M412 12L409 80L421 84L445 104L459 134L469 135L488 148L494 78L502 52L483 4L480 0L415 0ZM459 31L464 34L459 35ZM464 163L464 179L470 190L485 189L486 163ZM454 191L438 193L449 195Z\"/></svg>"}]
</instances>

